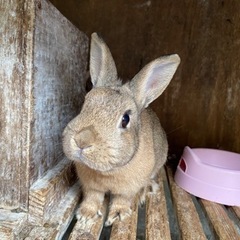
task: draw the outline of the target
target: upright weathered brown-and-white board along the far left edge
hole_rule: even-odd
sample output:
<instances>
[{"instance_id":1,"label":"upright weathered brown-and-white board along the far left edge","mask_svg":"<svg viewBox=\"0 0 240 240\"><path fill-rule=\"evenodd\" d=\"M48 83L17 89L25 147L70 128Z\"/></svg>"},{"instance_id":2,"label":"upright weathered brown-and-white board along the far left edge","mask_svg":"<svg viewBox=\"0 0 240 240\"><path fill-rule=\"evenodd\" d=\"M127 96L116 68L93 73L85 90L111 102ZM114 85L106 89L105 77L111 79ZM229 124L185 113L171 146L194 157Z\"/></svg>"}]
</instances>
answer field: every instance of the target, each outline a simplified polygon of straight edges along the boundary
<instances>
[{"instance_id":1,"label":"upright weathered brown-and-white board along the far left edge","mask_svg":"<svg viewBox=\"0 0 240 240\"><path fill-rule=\"evenodd\" d=\"M26 209L34 1L0 6L0 208Z\"/></svg>"}]
</instances>

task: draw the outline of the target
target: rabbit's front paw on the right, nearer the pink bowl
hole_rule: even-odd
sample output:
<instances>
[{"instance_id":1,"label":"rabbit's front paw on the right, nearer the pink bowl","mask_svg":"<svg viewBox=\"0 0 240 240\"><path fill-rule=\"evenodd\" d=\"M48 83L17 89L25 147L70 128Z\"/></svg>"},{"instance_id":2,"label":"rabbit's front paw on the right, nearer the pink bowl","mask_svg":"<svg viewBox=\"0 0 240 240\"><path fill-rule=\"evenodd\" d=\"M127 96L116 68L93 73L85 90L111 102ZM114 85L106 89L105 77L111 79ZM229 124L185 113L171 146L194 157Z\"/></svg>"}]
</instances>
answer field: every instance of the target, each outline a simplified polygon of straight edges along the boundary
<instances>
[{"instance_id":1,"label":"rabbit's front paw on the right, nearer the pink bowl","mask_svg":"<svg viewBox=\"0 0 240 240\"><path fill-rule=\"evenodd\" d=\"M105 226L111 226L114 221L122 221L125 218L131 216L132 210L129 206L113 205L110 207L108 218L105 222Z\"/></svg>"}]
</instances>

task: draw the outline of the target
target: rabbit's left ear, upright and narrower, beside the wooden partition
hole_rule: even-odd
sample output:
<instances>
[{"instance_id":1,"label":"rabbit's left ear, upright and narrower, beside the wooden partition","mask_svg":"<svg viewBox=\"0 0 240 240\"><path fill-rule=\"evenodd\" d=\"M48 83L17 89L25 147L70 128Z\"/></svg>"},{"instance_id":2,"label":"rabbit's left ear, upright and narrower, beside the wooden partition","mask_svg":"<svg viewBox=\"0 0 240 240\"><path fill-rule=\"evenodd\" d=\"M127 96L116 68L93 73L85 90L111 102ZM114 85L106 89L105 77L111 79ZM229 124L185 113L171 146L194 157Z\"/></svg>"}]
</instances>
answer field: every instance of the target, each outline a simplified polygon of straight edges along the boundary
<instances>
[{"instance_id":1,"label":"rabbit's left ear, upright and narrower, beside the wooden partition","mask_svg":"<svg viewBox=\"0 0 240 240\"><path fill-rule=\"evenodd\" d=\"M90 75L93 87L116 86L117 69L106 43L92 34L90 49Z\"/></svg>"}]
</instances>

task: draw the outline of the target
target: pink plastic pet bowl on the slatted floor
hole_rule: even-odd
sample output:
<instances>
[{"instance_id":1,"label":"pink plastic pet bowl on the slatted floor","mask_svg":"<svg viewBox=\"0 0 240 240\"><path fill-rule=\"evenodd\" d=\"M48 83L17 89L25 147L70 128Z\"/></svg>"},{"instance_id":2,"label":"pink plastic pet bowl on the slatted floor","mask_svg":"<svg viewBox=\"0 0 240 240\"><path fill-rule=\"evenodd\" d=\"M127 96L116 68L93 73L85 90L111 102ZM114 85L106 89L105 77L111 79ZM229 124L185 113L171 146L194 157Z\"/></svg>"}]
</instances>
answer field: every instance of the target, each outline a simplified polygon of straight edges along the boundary
<instances>
[{"instance_id":1,"label":"pink plastic pet bowl on the slatted floor","mask_svg":"<svg viewBox=\"0 0 240 240\"><path fill-rule=\"evenodd\" d=\"M240 154L185 147L174 179L197 197L240 206Z\"/></svg>"}]
</instances>

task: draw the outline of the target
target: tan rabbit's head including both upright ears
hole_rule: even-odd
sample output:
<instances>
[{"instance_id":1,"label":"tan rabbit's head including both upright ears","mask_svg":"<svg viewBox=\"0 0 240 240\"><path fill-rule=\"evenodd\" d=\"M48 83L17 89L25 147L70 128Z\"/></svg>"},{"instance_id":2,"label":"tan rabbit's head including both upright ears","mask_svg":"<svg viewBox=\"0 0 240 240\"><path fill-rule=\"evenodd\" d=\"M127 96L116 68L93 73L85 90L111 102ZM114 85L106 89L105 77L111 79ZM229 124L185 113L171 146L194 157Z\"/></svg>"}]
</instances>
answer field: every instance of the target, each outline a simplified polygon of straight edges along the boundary
<instances>
[{"instance_id":1,"label":"tan rabbit's head including both upright ears","mask_svg":"<svg viewBox=\"0 0 240 240\"><path fill-rule=\"evenodd\" d=\"M93 33L93 89L86 95L81 113L64 130L66 156L101 172L131 161L139 147L141 112L164 91L179 62L178 55L156 59L122 84L107 45Z\"/></svg>"}]
</instances>

